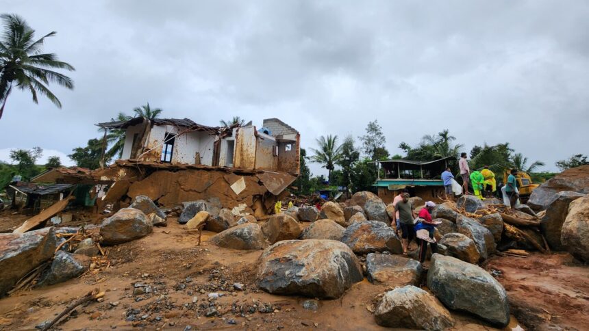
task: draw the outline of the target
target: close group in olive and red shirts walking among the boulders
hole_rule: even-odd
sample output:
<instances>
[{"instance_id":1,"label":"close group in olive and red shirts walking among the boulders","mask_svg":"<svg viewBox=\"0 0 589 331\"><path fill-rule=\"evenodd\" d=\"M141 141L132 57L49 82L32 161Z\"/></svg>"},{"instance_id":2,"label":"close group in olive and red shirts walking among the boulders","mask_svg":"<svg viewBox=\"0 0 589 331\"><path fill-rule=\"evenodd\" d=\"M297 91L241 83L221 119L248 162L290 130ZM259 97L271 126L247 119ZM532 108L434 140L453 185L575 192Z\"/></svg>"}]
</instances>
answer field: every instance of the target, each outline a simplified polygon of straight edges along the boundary
<instances>
[{"instance_id":1,"label":"close group in olive and red shirts walking among the boulders","mask_svg":"<svg viewBox=\"0 0 589 331\"><path fill-rule=\"evenodd\" d=\"M416 215L415 208L409 198L410 195L407 189L403 189L401 194L394 197L392 201L396 215L394 225L396 226L397 235L401 232L403 254L407 254L411 241L416 241L419 246L419 261L423 263L427 254L428 243L432 254L438 252L438 244L434 238L434 230L438 224L431 220L431 211L434 210L436 204L431 201L425 202L425 207Z\"/></svg>"}]
</instances>

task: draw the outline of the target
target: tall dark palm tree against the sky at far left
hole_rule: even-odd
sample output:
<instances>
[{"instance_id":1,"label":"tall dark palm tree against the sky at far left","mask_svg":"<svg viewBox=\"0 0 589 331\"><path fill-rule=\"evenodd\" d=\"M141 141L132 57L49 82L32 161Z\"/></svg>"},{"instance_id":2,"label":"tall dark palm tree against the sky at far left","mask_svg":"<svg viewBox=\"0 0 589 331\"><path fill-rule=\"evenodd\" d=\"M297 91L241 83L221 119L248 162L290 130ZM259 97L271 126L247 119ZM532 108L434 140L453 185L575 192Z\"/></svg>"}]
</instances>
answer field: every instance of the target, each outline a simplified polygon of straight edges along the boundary
<instances>
[{"instance_id":1,"label":"tall dark palm tree against the sky at far left","mask_svg":"<svg viewBox=\"0 0 589 331\"><path fill-rule=\"evenodd\" d=\"M55 106L61 108L62 103L47 85L49 82L58 83L72 90L74 83L70 77L49 68L69 71L75 69L66 62L58 61L57 55L41 52L45 38L55 36L56 32L51 31L34 40L35 30L20 16L2 14L0 19L4 22L4 33L0 39L0 118L13 84L20 90L29 90L34 103L38 103L39 93L47 96Z\"/></svg>"}]
</instances>

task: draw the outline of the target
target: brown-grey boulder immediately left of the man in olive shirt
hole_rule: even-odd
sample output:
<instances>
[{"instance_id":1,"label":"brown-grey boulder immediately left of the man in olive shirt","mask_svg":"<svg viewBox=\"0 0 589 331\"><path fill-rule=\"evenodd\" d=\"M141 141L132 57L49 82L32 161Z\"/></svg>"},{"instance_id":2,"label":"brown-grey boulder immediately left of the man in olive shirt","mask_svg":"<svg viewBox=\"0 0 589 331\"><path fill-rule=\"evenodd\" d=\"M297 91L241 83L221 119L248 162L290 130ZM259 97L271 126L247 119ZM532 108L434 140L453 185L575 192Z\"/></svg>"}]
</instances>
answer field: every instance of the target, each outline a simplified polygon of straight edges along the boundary
<instances>
[{"instance_id":1,"label":"brown-grey boulder immediately left of the man in olive shirt","mask_svg":"<svg viewBox=\"0 0 589 331\"><path fill-rule=\"evenodd\" d=\"M379 221L353 222L345 230L342 242L357 254L384 252L385 250L394 254L403 252L401 241L394 230Z\"/></svg>"}]
</instances>

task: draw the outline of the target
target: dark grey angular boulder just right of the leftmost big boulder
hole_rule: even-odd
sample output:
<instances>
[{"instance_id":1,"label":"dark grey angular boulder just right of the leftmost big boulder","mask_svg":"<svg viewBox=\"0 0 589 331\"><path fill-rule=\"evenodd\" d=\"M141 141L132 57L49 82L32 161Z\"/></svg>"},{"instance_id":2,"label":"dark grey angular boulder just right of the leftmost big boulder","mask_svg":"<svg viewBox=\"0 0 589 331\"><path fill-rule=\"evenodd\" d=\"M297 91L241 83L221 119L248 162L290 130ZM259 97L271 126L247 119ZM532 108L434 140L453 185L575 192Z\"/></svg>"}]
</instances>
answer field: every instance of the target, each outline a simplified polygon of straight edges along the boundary
<instances>
[{"instance_id":1,"label":"dark grey angular boulder just right of the leftmost big boulder","mask_svg":"<svg viewBox=\"0 0 589 331\"><path fill-rule=\"evenodd\" d=\"M90 257L86 255L70 254L60 250L55 253L51 268L41 277L39 285L53 285L84 274L90 267L90 262Z\"/></svg>"}]
</instances>

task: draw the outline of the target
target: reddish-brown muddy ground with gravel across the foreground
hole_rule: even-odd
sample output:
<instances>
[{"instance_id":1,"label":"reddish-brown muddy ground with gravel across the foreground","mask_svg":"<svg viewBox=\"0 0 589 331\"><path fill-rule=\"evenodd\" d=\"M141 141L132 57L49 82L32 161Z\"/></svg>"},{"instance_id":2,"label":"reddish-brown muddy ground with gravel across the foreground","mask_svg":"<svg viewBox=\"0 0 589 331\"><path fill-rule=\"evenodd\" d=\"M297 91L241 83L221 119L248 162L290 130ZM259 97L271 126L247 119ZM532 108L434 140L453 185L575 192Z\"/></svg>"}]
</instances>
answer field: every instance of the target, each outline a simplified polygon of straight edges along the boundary
<instances>
[{"instance_id":1,"label":"reddish-brown muddy ground with gravel across the foreground","mask_svg":"<svg viewBox=\"0 0 589 331\"><path fill-rule=\"evenodd\" d=\"M196 246L197 233L189 233L173 218L168 224L154 228L143 239L108 248L108 269L1 299L0 329L32 329L93 289L105 291L104 301L79 306L58 328L381 329L369 310L373 298L386 291L386 286L364 279L340 299L319 300L316 311L308 310L302 306L306 297L270 295L255 287L256 261L262 251L218 248L208 243L214 235L209 232L203 234L202 245ZM540 328L552 323L584 330L589 325L589 269L573 265L570 256L495 256L486 267L503 272L499 281L516 302L519 321ZM147 285L149 293L134 294L137 283ZM234 289L235 283L242 283L242 290ZM214 300L209 293L223 296ZM205 317L210 306L218 314ZM474 317L453 315L454 330L495 330ZM505 330L517 325L512 318Z\"/></svg>"}]
</instances>

